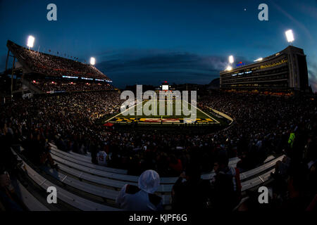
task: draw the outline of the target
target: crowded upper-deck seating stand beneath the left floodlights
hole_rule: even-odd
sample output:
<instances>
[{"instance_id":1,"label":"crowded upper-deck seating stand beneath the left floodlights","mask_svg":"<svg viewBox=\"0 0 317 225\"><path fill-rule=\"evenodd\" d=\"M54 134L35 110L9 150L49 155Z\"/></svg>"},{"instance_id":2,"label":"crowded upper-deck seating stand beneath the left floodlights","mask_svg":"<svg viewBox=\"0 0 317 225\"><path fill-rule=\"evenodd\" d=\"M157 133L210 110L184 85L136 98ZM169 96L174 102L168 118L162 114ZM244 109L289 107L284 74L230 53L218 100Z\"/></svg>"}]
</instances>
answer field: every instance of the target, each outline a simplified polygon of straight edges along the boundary
<instances>
[{"instance_id":1,"label":"crowded upper-deck seating stand beneath the left floodlights","mask_svg":"<svg viewBox=\"0 0 317 225\"><path fill-rule=\"evenodd\" d=\"M25 74L35 73L51 77L74 76L111 80L92 65L26 49L10 40L7 41L6 46L18 59L19 63L23 65Z\"/></svg>"}]
</instances>

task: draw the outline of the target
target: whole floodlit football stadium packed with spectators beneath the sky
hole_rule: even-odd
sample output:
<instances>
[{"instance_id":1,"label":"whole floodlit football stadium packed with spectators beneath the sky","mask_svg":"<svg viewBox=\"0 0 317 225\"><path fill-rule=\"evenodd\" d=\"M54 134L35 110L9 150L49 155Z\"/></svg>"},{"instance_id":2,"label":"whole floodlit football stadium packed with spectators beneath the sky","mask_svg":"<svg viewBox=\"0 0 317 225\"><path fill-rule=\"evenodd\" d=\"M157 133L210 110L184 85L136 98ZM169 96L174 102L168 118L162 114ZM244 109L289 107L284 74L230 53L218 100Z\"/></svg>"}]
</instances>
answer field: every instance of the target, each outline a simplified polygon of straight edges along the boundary
<instances>
[{"instance_id":1,"label":"whole floodlit football stadium packed with spectators beneath the sky","mask_svg":"<svg viewBox=\"0 0 317 225\"><path fill-rule=\"evenodd\" d=\"M217 89L186 84L184 98L161 82L139 99L96 58L33 41L6 41L1 210L316 210L317 101L303 49L236 68L230 57Z\"/></svg>"}]
</instances>

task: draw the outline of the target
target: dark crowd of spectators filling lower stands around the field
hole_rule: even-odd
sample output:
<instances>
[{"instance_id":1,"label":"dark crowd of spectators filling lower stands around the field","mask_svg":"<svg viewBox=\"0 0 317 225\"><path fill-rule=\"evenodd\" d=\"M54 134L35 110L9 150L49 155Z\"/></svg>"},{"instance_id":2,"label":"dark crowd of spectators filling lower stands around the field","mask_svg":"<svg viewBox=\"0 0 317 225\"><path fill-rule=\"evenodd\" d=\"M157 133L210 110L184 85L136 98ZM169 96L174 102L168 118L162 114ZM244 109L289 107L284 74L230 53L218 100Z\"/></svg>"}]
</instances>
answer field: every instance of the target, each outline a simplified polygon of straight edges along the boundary
<instances>
[{"instance_id":1,"label":"dark crowd of spectators filling lower stands around the field","mask_svg":"<svg viewBox=\"0 0 317 225\"><path fill-rule=\"evenodd\" d=\"M210 201L212 207L216 204L218 209L232 209L239 200L239 188L238 183L233 184L235 171L228 167L228 158L235 156L241 159L237 172L244 172L261 165L268 154L287 155L283 162L278 162L272 174L278 177L276 182L280 182L273 186L278 207L285 207L292 198L288 195L290 187L294 198L305 195L300 198L307 201L299 204L302 208L316 195L317 188L313 189L316 187L317 159L315 99L216 92L199 99L199 108L214 108L230 115L234 122L225 130L204 135L119 131L116 127L104 127L97 119L118 113L121 103L120 95L114 91L14 100L1 106L1 129L6 129L13 141L27 137L23 142L25 146L37 140L42 155L46 152L47 141L54 141L61 150L91 153L94 163L98 163L97 154L104 152L106 165L128 169L128 174L139 175L153 169L159 176L180 176L173 188L176 209L184 207L185 202L207 207ZM36 145L31 146L26 152L33 151ZM36 159L42 162L39 157ZM210 186L204 184L199 179L201 172L213 169L215 180ZM287 182L293 186L287 186ZM285 189L280 190L280 184L284 184ZM197 203L197 198L189 198L189 193L199 192L197 187L213 191L201 191L206 194L199 195ZM243 207L252 209L251 200Z\"/></svg>"}]
</instances>

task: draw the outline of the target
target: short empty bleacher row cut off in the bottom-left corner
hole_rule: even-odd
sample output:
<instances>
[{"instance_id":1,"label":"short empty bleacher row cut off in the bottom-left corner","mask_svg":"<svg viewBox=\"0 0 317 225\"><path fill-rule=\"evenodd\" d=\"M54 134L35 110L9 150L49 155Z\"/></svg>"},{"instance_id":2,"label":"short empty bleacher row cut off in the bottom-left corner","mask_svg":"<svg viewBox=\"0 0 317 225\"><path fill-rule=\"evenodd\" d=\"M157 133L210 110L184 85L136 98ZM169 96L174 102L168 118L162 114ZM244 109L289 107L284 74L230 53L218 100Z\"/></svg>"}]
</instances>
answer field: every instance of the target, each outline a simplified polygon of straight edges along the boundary
<instances>
[{"instance_id":1,"label":"short empty bleacher row cut off in the bottom-left corner","mask_svg":"<svg viewBox=\"0 0 317 225\"><path fill-rule=\"evenodd\" d=\"M16 181L15 186L15 193L20 195L20 198L24 205L27 207L30 211L49 211L49 209L43 205L42 203L37 200L29 191L27 191L27 188L25 188L20 181Z\"/></svg>"}]
</instances>

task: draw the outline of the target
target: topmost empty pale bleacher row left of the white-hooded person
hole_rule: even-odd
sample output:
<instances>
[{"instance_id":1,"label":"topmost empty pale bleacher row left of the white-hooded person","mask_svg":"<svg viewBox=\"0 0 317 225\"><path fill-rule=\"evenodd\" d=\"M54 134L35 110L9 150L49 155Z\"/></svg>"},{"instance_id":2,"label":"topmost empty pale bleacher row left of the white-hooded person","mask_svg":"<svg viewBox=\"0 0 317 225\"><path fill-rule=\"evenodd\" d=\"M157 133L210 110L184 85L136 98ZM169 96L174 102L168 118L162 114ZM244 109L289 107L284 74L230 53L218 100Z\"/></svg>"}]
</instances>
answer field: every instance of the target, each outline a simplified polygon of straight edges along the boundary
<instances>
[{"instance_id":1,"label":"topmost empty pale bleacher row left of the white-hooded person","mask_svg":"<svg viewBox=\"0 0 317 225\"><path fill-rule=\"evenodd\" d=\"M85 167L91 167L93 169L99 169L99 170L106 171L106 172L113 172L116 174L127 174L127 172L128 172L126 169L116 169L116 168L111 168L111 167L104 167L101 165L94 165L91 162L84 162L82 160L77 160L75 158L70 157L69 153L63 152L61 150L56 150L54 148L51 148L51 154L57 155L63 159L70 161L70 162L75 162L77 164L84 165Z\"/></svg>"}]
</instances>

